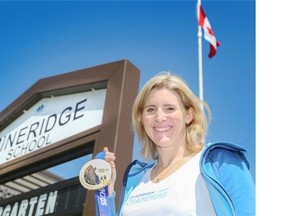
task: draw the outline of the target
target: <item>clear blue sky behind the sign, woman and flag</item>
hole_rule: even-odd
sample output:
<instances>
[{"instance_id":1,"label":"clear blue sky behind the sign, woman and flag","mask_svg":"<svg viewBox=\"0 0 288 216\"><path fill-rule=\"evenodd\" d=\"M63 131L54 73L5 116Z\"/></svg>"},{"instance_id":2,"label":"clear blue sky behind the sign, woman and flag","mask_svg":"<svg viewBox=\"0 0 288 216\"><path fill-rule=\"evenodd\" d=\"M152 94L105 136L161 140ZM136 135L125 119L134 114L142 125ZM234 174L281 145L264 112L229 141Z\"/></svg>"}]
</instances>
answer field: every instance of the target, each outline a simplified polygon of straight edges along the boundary
<instances>
[{"instance_id":1,"label":"clear blue sky behind the sign, woman and flag","mask_svg":"<svg viewBox=\"0 0 288 216\"><path fill-rule=\"evenodd\" d=\"M255 179L255 1L202 6L221 43L209 59L202 41L204 100L212 110L207 142L246 148ZM141 70L140 87L169 70L198 95L195 7L195 1L1 1L0 110L41 78L121 59Z\"/></svg>"}]
</instances>

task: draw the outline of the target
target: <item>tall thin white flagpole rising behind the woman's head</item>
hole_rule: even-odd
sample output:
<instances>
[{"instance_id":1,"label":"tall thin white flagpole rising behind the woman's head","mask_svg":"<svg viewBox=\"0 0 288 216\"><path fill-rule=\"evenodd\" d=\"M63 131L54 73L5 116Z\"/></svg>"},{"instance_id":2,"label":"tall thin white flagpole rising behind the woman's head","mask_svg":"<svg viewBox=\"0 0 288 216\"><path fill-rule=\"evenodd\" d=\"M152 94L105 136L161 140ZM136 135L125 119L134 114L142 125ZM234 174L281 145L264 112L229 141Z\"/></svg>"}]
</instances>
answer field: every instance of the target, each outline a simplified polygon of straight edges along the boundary
<instances>
[{"instance_id":1,"label":"tall thin white flagpole rising behind the woman's head","mask_svg":"<svg viewBox=\"0 0 288 216\"><path fill-rule=\"evenodd\" d=\"M199 13L199 6L201 5L201 0L197 0L197 13ZM199 14L198 14L199 16ZM203 67L202 67L202 29L198 24L198 76L199 76L199 98L204 100L203 96Z\"/></svg>"}]
</instances>

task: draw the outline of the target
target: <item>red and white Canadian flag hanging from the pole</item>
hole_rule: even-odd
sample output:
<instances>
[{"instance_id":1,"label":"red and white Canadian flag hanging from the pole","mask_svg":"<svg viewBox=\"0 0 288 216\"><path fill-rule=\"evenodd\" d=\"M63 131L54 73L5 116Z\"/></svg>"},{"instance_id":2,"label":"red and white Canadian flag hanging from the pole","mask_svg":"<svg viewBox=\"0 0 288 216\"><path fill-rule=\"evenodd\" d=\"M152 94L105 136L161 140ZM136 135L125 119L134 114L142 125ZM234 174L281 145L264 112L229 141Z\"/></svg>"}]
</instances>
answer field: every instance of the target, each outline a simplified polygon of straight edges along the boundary
<instances>
[{"instance_id":1,"label":"red and white Canadian flag hanging from the pole","mask_svg":"<svg viewBox=\"0 0 288 216\"><path fill-rule=\"evenodd\" d=\"M203 28L204 38L210 43L210 52L208 57L212 58L216 54L216 50L217 47L220 46L220 42L216 40L210 22L206 17L201 5L198 4L197 8L198 25Z\"/></svg>"}]
</instances>

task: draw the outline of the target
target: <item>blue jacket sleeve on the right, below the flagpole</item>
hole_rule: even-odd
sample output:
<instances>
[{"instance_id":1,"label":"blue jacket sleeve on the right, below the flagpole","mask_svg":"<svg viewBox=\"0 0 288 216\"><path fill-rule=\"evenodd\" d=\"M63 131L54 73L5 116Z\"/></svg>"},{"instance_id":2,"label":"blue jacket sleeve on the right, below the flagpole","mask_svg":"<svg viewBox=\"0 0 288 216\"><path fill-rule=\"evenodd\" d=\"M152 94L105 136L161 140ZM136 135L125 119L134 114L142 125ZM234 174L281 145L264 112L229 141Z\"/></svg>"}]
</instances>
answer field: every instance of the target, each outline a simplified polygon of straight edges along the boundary
<instances>
[{"instance_id":1,"label":"blue jacket sleeve on the right, below the flagpole","mask_svg":"<svg viewBox=\"0 0 288 216\"><path fill-rule=\"evenodd\" d=\"M208 159L212 162L214 177L230 197L236 215L254 216L255 184L244 152L237 146L215 145Z\"/></svg>"}]
</instances>

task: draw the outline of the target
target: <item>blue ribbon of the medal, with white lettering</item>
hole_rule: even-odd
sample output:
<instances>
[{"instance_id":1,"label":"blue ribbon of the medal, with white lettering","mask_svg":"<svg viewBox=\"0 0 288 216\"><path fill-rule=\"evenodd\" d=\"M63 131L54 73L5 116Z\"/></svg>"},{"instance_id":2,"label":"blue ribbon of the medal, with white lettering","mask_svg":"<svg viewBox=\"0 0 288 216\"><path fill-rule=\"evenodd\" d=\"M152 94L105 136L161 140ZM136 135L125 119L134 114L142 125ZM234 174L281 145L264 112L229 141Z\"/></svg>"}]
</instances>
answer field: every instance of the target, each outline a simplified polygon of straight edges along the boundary
<instances>
[{"instance_id":1,"label":"blue ribbon of the medal, with white lettering","mask_svg":"<svg viewBox=\"0 0 288 216\"><path fill-rule=\"evenodd\" d=\"M105 160L105 155L106 155L105 152L99 152L96 155L96 159ZM95 192L95 199L97 201L96 206L98 207L100 216L112 216L109 200L107 199L108 195L109 195L108 186L100 188Z\"/></svg>"}]
</instances>

